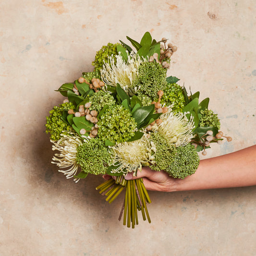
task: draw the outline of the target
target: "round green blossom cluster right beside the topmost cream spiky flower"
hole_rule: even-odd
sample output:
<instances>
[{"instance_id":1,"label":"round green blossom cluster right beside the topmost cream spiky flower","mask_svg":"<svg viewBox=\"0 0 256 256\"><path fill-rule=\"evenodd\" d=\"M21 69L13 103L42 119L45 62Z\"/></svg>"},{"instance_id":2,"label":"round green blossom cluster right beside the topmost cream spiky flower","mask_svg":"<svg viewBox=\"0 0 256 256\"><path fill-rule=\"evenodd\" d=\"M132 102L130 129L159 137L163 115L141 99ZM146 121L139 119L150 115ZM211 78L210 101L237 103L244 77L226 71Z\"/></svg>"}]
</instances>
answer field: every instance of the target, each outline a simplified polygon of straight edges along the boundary
<instances>
[{"instance_id":1,"label":"round green blossom cluster right beside the topmost cream spiky flower","mask_svg":"<svg viewBox=\"0 0 256 256\"><path fill-rule=\"evenodd\" d=\"M151 100L158 98L158 91L165 88L166 69L157 62L143 62L139 66L138 76L134 79L132 87L139 87L138 94L145 94Z\"/></svg>"}]
</instances>

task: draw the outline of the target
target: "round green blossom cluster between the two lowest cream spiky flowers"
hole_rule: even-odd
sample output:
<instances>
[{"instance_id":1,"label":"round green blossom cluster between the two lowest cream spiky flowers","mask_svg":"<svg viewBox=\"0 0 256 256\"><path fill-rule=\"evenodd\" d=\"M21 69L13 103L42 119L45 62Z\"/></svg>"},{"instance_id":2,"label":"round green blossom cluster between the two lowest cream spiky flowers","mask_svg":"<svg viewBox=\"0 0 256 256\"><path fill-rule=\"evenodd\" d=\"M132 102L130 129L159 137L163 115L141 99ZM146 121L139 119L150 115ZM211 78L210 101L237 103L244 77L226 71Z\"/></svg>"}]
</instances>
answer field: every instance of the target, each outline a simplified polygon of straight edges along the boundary
<instances>
[{"instance_id":1,"label":"round green blossom cluster between the two lowest cream spiky flowers","mask_svg":"<svg viewBox=\"0 0 256 256\"><path fill-rule=\"evenodd\" d=\"M76 162L82 171L92 174L105 174L112 154L103 141L90 139L77 147Z\"/></svg>"}]
</instances>

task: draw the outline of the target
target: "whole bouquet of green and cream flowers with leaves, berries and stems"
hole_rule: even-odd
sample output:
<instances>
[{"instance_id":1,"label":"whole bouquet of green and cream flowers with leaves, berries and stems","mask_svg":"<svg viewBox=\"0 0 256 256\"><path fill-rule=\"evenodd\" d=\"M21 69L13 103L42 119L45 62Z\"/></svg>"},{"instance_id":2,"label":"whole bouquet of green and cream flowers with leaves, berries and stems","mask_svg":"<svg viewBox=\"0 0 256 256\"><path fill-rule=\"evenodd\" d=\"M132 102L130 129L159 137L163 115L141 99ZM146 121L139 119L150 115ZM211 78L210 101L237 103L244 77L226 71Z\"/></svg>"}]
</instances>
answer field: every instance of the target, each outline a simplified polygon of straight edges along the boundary
<instances>
[{"instance_id":1,"label":"whole bouquet of green and cream flowers with leaves, berries and stems","mask_svg":"<svg viewBox=\"0 0 256 256\"><path fill-rule=\"evenodd\" d=\"M195 173L198 152L206 155L224 136L209 98L199 102L199 92L188 94L178 78L166 77L177 47L166 38L152 40L149 32L140 42L127 39L134 48L108 43L97 52L93 72L61 85L57 91L66 99L50 110L46 132L59 151L52 163L67 178L116 176L96 189L109 203L126 189L119 219L123 214L123 224L134 228L138 211L151 221L151 201L143 179L125 180L127 173L150 166L184 179Z\"/></svg>"}]
</instances>

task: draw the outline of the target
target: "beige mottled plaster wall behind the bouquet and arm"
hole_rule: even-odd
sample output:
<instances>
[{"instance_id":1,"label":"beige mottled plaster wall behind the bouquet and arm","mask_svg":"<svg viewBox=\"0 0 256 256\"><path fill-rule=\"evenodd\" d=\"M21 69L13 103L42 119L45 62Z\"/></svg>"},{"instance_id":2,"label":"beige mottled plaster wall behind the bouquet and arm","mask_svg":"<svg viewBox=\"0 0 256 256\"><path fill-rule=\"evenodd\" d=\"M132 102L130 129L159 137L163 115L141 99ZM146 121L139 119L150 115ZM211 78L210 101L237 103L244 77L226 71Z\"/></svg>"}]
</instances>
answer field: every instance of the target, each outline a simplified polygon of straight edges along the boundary
<instances>
[{"instance_id":1,"label":"beige mottled plaster wall behind the bouquet and arm","mask_svg":"<svg viewBox=\"0 0 256 256\"><path fill-rule=\"evenodd\" d=\"M152 223L134 230L95 187L50 164L54 92L92 71L100 47L149 31L178 46L170 75L210 97L232 143L256 144L255 0L1 0L0 256L255 256L256 187L150 193Z\"/></svg>"}]
</instances>

